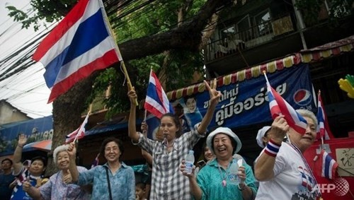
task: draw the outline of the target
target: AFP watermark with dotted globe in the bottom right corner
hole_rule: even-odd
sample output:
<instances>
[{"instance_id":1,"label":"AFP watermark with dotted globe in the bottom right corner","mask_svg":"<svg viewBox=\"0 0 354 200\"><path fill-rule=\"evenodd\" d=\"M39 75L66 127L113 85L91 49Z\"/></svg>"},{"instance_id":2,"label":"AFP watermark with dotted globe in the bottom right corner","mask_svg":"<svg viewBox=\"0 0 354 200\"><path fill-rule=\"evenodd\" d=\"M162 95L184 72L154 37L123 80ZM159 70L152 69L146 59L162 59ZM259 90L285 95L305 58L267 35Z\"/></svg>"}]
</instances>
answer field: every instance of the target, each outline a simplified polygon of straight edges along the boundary
<instances>
[{"instance_id":1,"label":"AFP watermark with dotted globe in the bottom right corner","mask_svg":"<svg viewBox=\"0 0 354 200\"><path fill-rule=\"evenodd\" d=\"M349 191L349 183L343 178L336 178L333 180L333 183L329 184L317 184L317 187L319 187L319 191L322 194L333 193L336 194L336 196L344 196Z\"/></svg>"}]
</instances>

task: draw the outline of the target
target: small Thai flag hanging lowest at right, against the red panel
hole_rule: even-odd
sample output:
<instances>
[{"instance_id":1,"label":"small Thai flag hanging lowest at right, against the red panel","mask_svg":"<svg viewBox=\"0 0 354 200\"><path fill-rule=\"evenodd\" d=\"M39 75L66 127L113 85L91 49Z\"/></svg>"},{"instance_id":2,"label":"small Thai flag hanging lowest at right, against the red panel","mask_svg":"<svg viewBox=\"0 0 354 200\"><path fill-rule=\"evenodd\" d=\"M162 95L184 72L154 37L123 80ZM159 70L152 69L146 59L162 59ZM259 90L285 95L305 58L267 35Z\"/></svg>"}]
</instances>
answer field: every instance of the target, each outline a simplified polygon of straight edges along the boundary
<instances>
[{"instance_id":1,"label":"small Thai flag hanging lowest at right, against the red panel","mask_svg":"<svg viewBox=\"0 0 354 200\"><path fill-rule=\"evenodd\" d=\"M320 154L321 163L321 177L326 177L328 179L335 179L337 173L338 163L334 160L331 155L322 149Z\"/></svg>"}]
</instances>

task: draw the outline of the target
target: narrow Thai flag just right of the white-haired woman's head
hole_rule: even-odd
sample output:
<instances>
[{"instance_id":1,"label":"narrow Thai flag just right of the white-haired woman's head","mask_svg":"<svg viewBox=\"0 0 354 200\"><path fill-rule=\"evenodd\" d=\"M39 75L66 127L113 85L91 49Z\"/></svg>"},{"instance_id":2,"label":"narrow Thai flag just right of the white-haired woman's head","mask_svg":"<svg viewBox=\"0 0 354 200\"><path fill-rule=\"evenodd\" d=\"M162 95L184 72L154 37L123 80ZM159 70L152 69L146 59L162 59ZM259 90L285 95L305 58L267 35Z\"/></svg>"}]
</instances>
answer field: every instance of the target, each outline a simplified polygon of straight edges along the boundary
<instances>
[{"instance_id":1,"label":"narrow Thai flag just right of the white-haired woman's head","mask_svg":"<svg viewBox=\"0 0 354 200\"><path fill-rule=\"evenodd\" d=\"M324 104L322 103L321 93L318 94L317 103L317 121L319 122L319 132L317 133L316 139L329 140L333 139L333 134L331 129L329 129L329 123L327 121L326 112L324 112Z\"/></svg>"}]
</instances>

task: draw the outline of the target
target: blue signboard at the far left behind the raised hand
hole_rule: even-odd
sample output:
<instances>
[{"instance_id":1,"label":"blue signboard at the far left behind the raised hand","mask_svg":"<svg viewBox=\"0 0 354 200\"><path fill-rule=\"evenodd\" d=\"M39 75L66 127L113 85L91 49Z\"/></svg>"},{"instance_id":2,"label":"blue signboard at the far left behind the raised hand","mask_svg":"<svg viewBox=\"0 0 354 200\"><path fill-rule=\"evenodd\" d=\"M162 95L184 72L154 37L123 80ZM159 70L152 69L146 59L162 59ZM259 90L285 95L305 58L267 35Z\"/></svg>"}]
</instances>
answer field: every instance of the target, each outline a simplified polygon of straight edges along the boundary
<instances>
[{"instance_id":1,"label":"blue signboard at the far left behind the raised hand","mask_svg":"<svg viewBox=\"0 0 354 200\"><path fill-rule=\"evenodd\" d=\"M52 115L6 124L0 129L0 156L13 154L19 134L28 136L27 143L51 140L53 136Z\"/></svg>"}]
</instances>

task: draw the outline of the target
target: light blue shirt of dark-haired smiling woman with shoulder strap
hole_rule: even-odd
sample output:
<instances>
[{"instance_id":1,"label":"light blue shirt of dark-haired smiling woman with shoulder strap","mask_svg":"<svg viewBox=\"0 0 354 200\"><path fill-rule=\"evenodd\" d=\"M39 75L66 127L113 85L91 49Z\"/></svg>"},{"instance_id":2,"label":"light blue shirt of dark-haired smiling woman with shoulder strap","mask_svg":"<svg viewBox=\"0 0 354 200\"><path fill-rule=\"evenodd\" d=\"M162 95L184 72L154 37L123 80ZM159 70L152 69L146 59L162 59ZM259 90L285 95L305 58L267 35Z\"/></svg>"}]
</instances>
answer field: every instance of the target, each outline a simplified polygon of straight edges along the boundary
<instances>
[{"instance_id":1,"label":"light blue shirt of dark-haired smiling woman with shoulder strap","mask_svg":"<svg viewBox=\"0 0 354 200\"><path fill-rule=\"evenodd\" d=\"M110 199L108 190L108 180L105 172L108 168L108 175L110 179L110 191L112 199L131 199L135 200L135 175L132 167L122 163L115 175L110 172L108 164L98 165L91 170L79 173L79 180L77 184L86 185L92 184L91 199Z\"/></svg>"}]
</instances>

